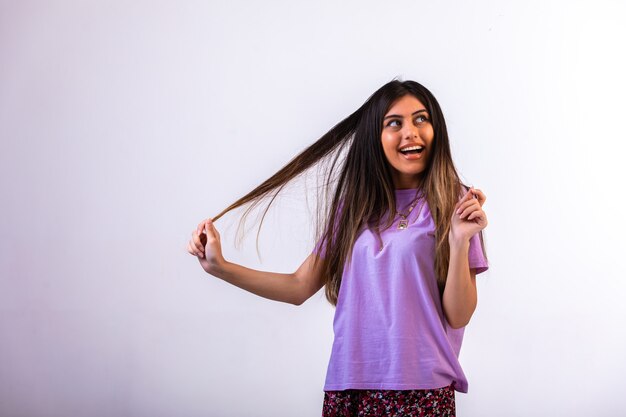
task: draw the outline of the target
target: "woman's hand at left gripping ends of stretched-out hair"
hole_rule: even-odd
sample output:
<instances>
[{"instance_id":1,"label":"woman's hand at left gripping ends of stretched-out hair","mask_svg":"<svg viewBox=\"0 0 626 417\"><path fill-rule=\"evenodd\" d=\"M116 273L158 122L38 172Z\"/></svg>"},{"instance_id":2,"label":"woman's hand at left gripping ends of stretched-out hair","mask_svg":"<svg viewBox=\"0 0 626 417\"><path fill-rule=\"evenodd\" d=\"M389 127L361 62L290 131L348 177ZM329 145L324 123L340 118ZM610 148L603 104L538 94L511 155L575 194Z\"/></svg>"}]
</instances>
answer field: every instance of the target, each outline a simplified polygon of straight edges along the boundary
<instances>
[{"instance_id":1,"label":"woman's hand at left gripping ends of stretched-out hair","mask_svg":"<svg viewBox=\"0 0 626 417\"><path fill-rule=\"evenodd\" d=\"M200 222L198 228L191 233L187 252L197 256L202 269L215 275L224 264L220 234L211 219Z\"/></svg>"}]
</instances>

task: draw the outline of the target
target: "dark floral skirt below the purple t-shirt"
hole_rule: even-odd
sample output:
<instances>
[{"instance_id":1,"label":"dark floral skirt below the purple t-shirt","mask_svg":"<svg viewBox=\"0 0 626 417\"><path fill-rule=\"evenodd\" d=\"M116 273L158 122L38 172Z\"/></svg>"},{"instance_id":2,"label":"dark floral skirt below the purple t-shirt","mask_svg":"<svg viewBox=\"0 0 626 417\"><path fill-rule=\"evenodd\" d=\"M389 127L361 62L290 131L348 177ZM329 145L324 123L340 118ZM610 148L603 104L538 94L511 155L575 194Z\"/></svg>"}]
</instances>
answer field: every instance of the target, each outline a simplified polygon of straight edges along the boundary
<instances>
[{"instance_id":1,"label":"dark floral skirt below the purple t-shirt","mask_svg":"<svg viewBox=\"0 0 626 417\"><path fill-rule=\"evenodd\" d=\"M454 383L420 390L325 391L322 417L455 417Z\"/></svg>"}]
</instances>

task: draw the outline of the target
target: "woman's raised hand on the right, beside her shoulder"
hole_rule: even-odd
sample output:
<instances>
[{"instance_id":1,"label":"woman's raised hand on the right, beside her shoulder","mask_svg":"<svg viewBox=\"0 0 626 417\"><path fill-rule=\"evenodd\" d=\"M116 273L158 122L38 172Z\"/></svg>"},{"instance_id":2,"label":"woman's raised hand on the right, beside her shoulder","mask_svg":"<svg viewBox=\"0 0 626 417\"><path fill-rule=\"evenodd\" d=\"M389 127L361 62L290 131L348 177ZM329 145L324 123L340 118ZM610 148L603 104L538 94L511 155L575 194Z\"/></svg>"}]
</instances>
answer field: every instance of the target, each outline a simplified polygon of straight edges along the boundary
<instances>
[{"instance_id":1,"label":"woman's raised hand on the right, beside her shoulder","mask_svg":"<svg viewBox=\"0 0 626 417\"><path fill-rule=\"evenodd\" d=\"M487 198L482 191L471 187L454 206L449 240L469 241L472 236L487 227L487 214L482 205Z\"/></svg>"}]
</instances>

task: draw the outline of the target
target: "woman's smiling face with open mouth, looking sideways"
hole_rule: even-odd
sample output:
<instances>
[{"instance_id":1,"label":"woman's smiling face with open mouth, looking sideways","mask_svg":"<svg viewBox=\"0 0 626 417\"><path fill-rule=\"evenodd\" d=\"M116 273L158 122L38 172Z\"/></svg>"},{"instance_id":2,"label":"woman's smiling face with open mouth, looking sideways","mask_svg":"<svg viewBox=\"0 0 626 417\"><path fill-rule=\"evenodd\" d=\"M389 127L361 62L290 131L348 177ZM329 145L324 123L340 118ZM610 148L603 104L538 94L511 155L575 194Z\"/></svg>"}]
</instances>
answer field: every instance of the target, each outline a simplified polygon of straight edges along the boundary
<instances>
[{"instance_id":1,"label":"woman's smiling face with open mouth, looking sideways","mask_svg":"<svg viewBox=\"0 0 626 417\"><path fill-rule=\"evenodd\" d=\"M430 114L417 98L406 95L391 105L380 139L397 189L419 186L434 136Z\"/></svg>"}]
</instances>

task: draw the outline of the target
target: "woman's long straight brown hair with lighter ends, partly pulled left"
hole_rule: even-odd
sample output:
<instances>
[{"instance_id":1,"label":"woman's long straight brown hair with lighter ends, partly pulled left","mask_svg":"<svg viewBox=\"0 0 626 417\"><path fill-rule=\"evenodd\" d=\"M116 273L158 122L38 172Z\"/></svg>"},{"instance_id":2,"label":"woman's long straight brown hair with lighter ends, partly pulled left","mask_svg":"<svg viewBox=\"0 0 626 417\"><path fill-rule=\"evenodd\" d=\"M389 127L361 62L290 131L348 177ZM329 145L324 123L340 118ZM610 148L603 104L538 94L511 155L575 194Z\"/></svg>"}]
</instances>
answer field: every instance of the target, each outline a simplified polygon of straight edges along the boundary
<instances>
[{"instance_id":1,"label":"woman's long straight brown hair with lighter ends, partly pulled left","mask_svg":"<svg viewBox=\"0 0 626 417\"><path fill-rule=\"evenodd\" d=\"M394 79L383 85L359 109L261 185L225 208L213 221L252 203L241 218L244 222L260 201L271 197L261 218L260 232L263 218L280 191L291 180L321 163L325 167L325 181L322 191L318 192L318 201L330 200L330 204L318 205L315 237L318 244L325 247L325 256L316 258L316 262L322 262L326 298L336 305L343 268L350 261L352 247L362 227L373 226L379 231L384 214L396 212L392 169L382 148L381 133L384 115L396 100L406 95L412 95L424 104L434 130L432 149L426 171L421 174L420 188L436 225L435 273L442 295L450 262L450 222L454 206L468 187L461 183L454 167L446 122L439 103L426 87L415 81ZM387 216L382 228L391 226L393 220L393 216ZM479 233L486 258L482 231Z\"/></svg>"}]
</instances>

